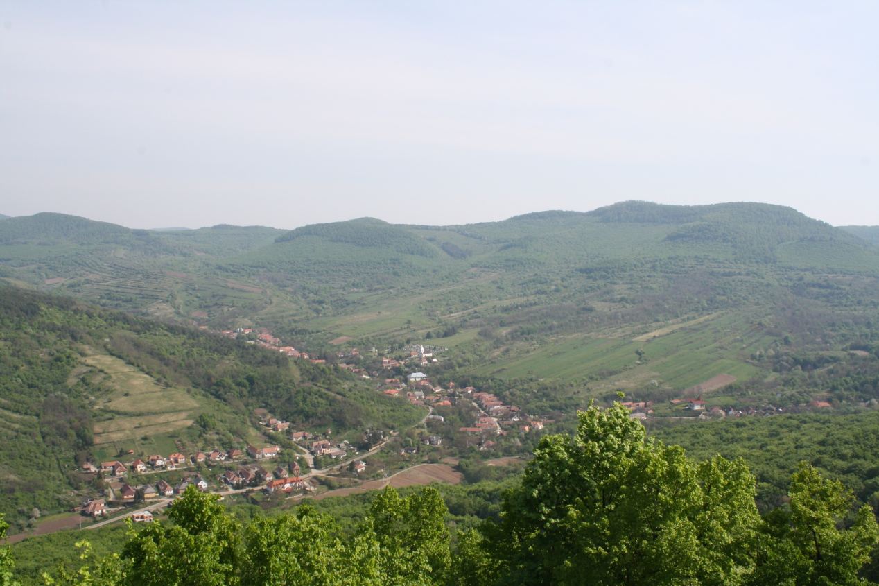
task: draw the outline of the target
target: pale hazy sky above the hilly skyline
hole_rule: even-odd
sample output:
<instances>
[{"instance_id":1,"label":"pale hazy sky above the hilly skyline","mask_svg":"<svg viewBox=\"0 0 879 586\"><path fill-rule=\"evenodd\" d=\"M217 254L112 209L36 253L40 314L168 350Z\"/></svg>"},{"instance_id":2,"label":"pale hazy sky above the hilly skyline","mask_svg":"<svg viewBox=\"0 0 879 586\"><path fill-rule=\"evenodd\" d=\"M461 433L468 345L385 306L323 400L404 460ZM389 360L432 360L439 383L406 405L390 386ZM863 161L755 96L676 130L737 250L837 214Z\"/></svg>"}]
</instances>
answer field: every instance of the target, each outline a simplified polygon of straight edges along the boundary
<instances>
[{"instance_id":1,"label":"pale hazy sky above the hilly skyline","mask_svg":"<svg viewBox=\"0 0 879 586\"><path fill-rule=\"evenodd\" d=\"M0 3L0 213L879 224L879 3Z\"/></svg>"}]
</instances>

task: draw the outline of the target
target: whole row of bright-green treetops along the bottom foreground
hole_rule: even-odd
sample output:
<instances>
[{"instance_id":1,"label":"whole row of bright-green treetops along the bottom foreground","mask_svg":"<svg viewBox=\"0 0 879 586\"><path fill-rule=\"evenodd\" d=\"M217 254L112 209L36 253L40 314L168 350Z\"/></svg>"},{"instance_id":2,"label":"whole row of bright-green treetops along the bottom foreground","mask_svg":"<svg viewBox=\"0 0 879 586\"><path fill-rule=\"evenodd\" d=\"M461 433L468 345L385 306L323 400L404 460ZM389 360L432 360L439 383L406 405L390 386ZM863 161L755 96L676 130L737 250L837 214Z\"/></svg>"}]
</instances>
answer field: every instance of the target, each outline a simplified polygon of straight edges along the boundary
<instances>
[{"instance_id":1,"label":"whole row of bright-green treetops along the bottom foreground","mask_svg":"<svg viewBox=\"0 0 879 586\"><path fill-rule=\"evenodd\" d=\"M741 459L700 464L646 440L619 403L579 414L576 435L547 436L498 521L455 534L432 487L386 489L350 535L303 504L243 528L193 488L121 554L62 566L47 584L596 584L832 586L859 572L879 542L867 505L801 464L789 502L760 516ZM11 584L8 552L0 583ZM5 576L5 578L4 578ZM2 580L5 580L3 582Z\"/></svg>"}]
</instances>

